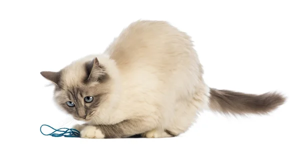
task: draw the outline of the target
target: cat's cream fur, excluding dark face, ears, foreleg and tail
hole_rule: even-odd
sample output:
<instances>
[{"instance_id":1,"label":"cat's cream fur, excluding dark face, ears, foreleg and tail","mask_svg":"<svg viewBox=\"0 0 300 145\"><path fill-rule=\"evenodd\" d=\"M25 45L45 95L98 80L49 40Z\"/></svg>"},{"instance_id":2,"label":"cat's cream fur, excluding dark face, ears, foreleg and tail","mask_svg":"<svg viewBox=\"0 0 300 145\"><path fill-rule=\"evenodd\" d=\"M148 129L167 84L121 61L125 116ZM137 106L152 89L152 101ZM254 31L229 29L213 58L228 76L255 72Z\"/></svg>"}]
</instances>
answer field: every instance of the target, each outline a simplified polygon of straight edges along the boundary
<instances>
[{"instance_id":1,"label":"cat's cream fur, excluding dark face, ears, foreleg and tail","mask_svg":"<svg viewBox=\"0 0 300 145\"><path fill-rule=\"evenodd\" d=\"M192 41L165 21L135 21L104 53L73 61L62 71L65 88L81 83L83 63L94 57L104 65L112 82L108 99L99 106L93 117L96 119L87 124L138 119L144 129L136 133L143 133L144 137L170 137L186 131L197 113L208 107L209 87L202 78L203 70ZM56 92L55 97L61 93ZM88 125L81 132L81 137L104 137Z\"/></svg>"}]
</instances>

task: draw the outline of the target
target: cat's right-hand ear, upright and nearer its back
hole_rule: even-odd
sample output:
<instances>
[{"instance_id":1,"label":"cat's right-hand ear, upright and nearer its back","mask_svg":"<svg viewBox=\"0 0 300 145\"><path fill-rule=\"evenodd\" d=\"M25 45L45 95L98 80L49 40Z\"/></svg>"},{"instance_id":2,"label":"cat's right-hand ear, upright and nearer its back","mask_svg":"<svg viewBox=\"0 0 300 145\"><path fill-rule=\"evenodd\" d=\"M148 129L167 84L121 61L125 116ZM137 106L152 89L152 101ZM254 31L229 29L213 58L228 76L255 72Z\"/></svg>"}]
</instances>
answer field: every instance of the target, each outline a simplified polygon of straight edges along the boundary
<instances>
[{"instance_id":1,"label":"cat's right-hand ear, upright and nearer its back","mask_svg":"<svg viewBox=\"0 0 300 145\"><path fill-rule=\"evenodd\" d=\"M98 81L103 82L107 78L107 73L102 64L99 63L98 58L94 57L91 61L86 63L87 78L86 82Z\"/></svg>"}]
</instances>

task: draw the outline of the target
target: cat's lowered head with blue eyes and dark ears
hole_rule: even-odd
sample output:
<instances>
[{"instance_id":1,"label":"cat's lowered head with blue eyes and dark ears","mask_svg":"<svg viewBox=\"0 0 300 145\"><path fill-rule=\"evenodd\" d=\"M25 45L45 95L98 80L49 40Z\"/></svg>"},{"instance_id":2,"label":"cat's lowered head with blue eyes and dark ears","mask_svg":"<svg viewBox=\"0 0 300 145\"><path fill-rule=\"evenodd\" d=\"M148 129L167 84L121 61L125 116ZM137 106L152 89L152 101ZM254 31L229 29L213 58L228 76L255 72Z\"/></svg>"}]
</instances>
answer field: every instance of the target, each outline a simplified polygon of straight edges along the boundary
<instances>
[{"instance_id":1,"label":"cat's lowered head with blue eyes and dark ears","mask_svg":"<svg viewBox=\"0 0 300 145\"><path fill-rule=\"evenodd\" d=\"M100 60L100 61L99 61ZM108 115L117 102L117 70L105 57L86 56L59 71L41 71L54 85L54 100L77 120Z\"/></svg>"}]
</instances>

